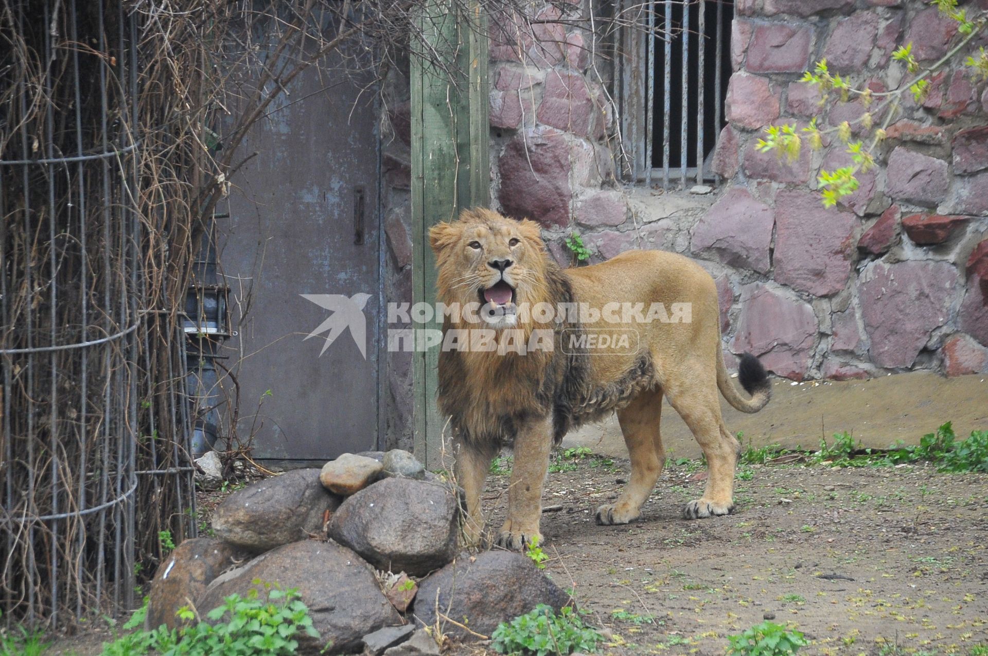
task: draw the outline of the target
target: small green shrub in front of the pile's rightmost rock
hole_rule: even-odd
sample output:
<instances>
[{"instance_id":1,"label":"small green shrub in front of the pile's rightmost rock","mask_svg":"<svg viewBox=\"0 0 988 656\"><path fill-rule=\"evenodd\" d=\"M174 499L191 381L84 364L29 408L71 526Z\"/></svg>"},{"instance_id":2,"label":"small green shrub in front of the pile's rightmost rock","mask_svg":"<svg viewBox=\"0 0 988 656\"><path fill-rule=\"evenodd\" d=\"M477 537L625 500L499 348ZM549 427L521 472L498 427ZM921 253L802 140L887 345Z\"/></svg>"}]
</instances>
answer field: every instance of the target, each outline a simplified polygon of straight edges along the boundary
<instances>
[{"instance_id":1,"label":"small green shrub in front of the pile's rightmost rock","mask_svg":"<svg viewBox=\"0 0 988 656\"><path fill-rule=\"evenodd\" d=\"M544 604L510 622L501 622L491 634L491 646L501 654L561 654L596 652L604 636L583 623L580 615L565 606L559 615Z\"/></svg>"}]
</instances>

